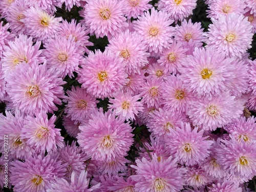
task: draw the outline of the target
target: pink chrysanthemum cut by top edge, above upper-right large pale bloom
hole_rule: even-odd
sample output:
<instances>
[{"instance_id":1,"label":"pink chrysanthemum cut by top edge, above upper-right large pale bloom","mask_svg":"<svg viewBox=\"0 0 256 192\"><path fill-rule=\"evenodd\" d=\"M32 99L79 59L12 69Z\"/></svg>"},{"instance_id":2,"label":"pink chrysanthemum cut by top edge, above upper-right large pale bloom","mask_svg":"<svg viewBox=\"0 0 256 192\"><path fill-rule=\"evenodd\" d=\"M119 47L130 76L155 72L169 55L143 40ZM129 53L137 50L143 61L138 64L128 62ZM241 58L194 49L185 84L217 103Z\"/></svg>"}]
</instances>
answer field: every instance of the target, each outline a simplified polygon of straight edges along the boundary
<instances>
[{"instance_id":1,"label":"pink chrysanthemum cut by top edge, above upper-right large pale bloom","mask_svg":"<svg viewBox=\"0 0 256 192\"><path fill-rule=\"evenodd\" d=\"M209 5L209 10L206 10L206 12L208 12L208 18L218 19L220 15L227 16L231 13L242 15L244 14L245 8L245 0L217 0Z\"/></svg>"}]
</instances>

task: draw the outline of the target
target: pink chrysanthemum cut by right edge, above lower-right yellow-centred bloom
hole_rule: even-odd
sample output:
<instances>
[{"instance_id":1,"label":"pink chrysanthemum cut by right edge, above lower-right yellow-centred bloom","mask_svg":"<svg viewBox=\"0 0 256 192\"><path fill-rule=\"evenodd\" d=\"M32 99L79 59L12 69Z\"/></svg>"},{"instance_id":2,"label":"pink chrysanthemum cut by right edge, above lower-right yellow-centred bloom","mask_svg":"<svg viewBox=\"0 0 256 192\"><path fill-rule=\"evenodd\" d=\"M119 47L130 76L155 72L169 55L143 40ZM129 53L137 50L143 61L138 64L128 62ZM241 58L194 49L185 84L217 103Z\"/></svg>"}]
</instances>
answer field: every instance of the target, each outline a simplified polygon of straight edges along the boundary
<instances>
[{"instance_id":1,"label":"pink chrysanthemum cut by right edge, above lower-right yellow-centred bloom","mask_svg":"<svg viewBox=\"0 0 256 192\"><path fill-rule=\"evenodd\" d=\"M241 142L242 140L248 143L254 142L256 141L255 121L256 118L254 118L254 116L251 116L248 119L240 117L239 119L233 119L231 123L224 126L224 129L238 142Z\"/></svg>"}]
</instances>

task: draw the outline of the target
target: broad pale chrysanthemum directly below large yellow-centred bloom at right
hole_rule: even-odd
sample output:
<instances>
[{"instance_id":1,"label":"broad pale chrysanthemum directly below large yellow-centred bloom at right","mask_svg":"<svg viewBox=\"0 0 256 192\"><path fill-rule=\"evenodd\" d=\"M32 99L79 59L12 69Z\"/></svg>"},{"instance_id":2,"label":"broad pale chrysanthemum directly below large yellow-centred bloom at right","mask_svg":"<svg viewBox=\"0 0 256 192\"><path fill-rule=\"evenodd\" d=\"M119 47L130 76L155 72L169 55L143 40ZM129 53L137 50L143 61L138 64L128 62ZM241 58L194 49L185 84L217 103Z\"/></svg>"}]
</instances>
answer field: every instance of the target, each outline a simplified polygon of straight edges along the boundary
<instances>
[{"instance_id":1,"label":"broad pale chrysanthemum directly below large yellow-centred bloom at right","mask_svg":"<svg viewBox=\"0 0 256 192\"><path fill-rule=\"evenodd\" d=\"M202 125L204 130L214 131L243 113L243 103L234 99L234 96L226 92L211 99L196 100L191 103L187 115L194 125Z\"/></svg>"}]
</instances>

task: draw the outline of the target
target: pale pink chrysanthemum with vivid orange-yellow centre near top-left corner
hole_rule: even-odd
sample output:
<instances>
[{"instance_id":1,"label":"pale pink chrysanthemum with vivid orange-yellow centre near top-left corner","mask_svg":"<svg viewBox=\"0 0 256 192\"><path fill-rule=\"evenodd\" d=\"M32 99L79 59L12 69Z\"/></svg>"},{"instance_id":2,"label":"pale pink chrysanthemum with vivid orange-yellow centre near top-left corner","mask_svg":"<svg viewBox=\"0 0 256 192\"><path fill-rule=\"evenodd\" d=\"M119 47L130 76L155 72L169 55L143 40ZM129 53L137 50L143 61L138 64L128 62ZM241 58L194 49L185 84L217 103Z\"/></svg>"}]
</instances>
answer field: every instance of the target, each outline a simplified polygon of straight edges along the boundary
<instances>
[{"instance_id":1,"label":"pale pink chrysanthemum with vivid orange-yellow centre near top-left corner","mask_svg":"<svg viewBox=\"0 0 256 192\"><path fill-rule=\"evenodd\" d=\"M43 42L54 38L59 30L62 18L54 17L40 8L30 7L24 12L25 18L20 19L26 28L26 34L33 37L35 40Z\"/></svg>"}]
</instances>

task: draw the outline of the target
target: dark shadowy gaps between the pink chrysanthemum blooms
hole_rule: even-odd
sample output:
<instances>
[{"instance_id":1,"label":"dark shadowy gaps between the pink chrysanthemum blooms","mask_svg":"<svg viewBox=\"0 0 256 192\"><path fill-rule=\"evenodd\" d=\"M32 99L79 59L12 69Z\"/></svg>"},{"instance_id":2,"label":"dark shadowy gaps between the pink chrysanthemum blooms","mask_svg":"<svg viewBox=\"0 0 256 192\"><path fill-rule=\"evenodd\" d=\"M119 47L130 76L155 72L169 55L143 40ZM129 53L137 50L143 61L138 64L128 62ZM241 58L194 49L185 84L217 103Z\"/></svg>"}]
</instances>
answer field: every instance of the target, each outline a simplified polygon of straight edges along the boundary
<instances>
[{"instance_id":1,"label":"dark shadowy gaps between the pink chrysanthemum blooms","mask_svg":"<svg viewBox=\"0 0 256 192\"><path fill-rule=\"evenodd\" d=\"M152 4L153 6L156 5L156 3L158 2L158 0L153 0L150 2L150 4ZM157 6L155 6L155 8L157 8ZM67 20L68 22L71 22L71 19L76 19L77 23L79 22L79 20L82 19L82 17L79 15L79 11L81 10L81 7L73 7L71 9L71 11L66 11L65 5L63 5L61 8L57 8L57 12L55 14L55 17L62 17L63 19ZM211 24L211 20L209 18L206 17L206 10L207 10L207 5L204 3L204 0L198 0L197 1L197 7L196 9L193 10L193 15L189 16L189 18L191 18L192 22L201 22L202 28L204 28L204 31L207 32L208 31L208 26L209 24ZM4 25L7 23L5 19L1 19L1 21L4 21ZM174 25L174 24L173 24ZM177 24L180 25L180 22ZM104 51L105 47L108 45L109 41L108 38L106 36L104 36L103 38L96 38L95 35L91 35L89 41L93 42L94 46L88 47L89 50L91 51L95 51L97 49L99 49L100 51ZM248 52L250 53L250 57L252 58L252 60L254 60L256 58L256 34L253 35L253 41L251 44L252 48L248 50ZM41 45L41 49L44 49L44 47ZM87 56L87 54L85 54L85 56ZM75 78L77 77L77 74L74 73ZM66 92L67 90L71 90L72 86L79 86L81 87L81 84L78 83L78 81L75 78L70 78L68 76L65 77L65 81L67 82L65 85L63 85L63 89ZM104 111L108 111L108 103L109 103L109 99L98 99L99 103L97 104L98 108L103 108ZM73 137L70 137L67 132L65 131L63 125L62 125L62 118L61 116L64 114L64 110L65 110L65 104L63 103L61 105L58 105L58 111L56 111L54 114L57 116L57 120L55 122L55 125L58 129L61 129L61 136L63 136L65 139L65 142L69 142L71 143L73 140L76 140ZM0 103L0 113L3 113L5 115L5 103ZM256 116L256 112L250 111L251 115ZM48 114L48 117L50 118L52 116L52 114ZM0 122L1 123L1 122ZM140 142L141 139L147 139L149 138L150 133L147 131L146 126L138 126L136 124L132 124L132 127L135 127L133 134L134 139L135 139L135 143L139 143L141 146L142 143ZM219 134L220 133L220 129L217 129L217 131L214 132L214 134ZM131 146L130 151L128 152L128 156L126 157L127 159L131 160L131 161L135 161L135 157L137 156L137 148L134 146ZM250 180L248 183L246 183L246 185L248 184L248 187L252 190L252 191L256 191L256 176ZM4 191L13 191L12 188L8 189L8 188L4 188ZM28 191L29 192L29 191ZM39 192L39 191L38 191Z\"/></svg>"}]
</instances>

